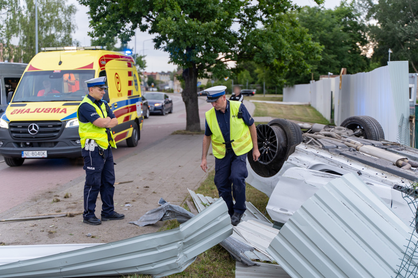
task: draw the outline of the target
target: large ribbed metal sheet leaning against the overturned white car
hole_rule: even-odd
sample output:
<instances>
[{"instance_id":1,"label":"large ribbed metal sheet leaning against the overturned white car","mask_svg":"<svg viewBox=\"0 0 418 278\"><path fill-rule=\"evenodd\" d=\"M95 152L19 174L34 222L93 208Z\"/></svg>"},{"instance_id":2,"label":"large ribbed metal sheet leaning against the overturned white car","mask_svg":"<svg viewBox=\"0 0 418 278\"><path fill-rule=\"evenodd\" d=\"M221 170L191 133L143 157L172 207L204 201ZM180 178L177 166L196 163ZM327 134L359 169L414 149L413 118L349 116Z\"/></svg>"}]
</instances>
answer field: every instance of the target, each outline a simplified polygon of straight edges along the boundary
<instances>
[{"instance_id":1,"label":"large ribbed metal sheet leaning against the overturned white car","mask_svg":"<svg viewBox=\"0 0 418 278\"><path fill-rule=\"evenodd\" d=\"M395 277L410 233L361 179L347 174L306 201L267 252L293 278Z\"/></svg>"}]
</instances>

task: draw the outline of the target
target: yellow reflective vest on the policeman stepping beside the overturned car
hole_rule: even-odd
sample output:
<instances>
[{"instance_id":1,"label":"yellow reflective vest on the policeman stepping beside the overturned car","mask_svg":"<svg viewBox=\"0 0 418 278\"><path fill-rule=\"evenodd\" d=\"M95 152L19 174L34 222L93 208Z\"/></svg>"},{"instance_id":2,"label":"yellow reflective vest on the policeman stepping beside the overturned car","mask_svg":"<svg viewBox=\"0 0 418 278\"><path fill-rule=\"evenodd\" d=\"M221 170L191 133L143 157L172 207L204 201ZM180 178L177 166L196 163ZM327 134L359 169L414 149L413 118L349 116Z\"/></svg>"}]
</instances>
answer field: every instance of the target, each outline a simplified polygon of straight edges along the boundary
<instances>
[{"instance_id":1,"label":"yellow reflective vest on the policeman stepping beside the overturned car","mask_svg":"<svg viewBox=\"0 0 418 278\"><path fill-rule=\"evenodd\" d=\"M229 100L230 107L230 140L232 149L235 155L241 156L248 153L253 148L253 142L251 140L250 129L242 119L238 118L238 112L240 111L240 101ZM211 142L213 155L217 159L225 157L226 145L222 132L220 131L218 119L216 119L215 108L212 107L205 113L206 121L210 130L212 131Z\"/></svg>"}]
</instances>

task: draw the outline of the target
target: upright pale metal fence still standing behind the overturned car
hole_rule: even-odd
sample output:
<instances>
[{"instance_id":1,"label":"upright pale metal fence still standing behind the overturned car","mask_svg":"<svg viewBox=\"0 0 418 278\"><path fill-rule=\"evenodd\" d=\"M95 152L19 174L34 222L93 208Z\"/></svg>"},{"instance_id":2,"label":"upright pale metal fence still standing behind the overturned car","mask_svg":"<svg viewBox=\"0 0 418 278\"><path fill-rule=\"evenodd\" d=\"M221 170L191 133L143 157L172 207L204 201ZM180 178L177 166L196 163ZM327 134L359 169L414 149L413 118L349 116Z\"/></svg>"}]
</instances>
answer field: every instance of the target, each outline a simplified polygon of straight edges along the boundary
<instances>
[{"instance_id":1,"label":"upright pale metal fence still standing behind the overturned car","mask_svg":"<svg viewBox=\"0 0 418 278\"><path fill-rule=\"evenodd\" d=\"M351 116L371 116L382 125L385 139L409 146L408 76L408 61L392 61L371 72L341 76L341 89L339 77L311 81L309 102L336 125ZM305 97L306 84L301 84L292 87L293 99L299 88ZM284 100L289 93L283 90Z\"/></svg>"}]
</instances>

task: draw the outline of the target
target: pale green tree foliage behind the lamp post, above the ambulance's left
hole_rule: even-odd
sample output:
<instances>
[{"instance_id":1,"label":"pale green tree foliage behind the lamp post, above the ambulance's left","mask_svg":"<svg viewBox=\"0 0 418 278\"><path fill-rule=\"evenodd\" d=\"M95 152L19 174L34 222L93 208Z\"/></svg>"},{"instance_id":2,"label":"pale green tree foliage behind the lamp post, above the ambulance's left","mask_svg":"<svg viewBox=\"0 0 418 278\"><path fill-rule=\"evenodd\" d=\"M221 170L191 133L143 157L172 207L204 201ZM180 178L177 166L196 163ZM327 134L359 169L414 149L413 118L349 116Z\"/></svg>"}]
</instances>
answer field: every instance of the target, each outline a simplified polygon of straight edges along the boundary
<instances>
[{"instance_id":1,"label":"pale green tree foliage behind the lamp post, above the ambulance's left","mask_svg":"<svg viewBox=\"0 0 418 278\"><path fill-rule=\"evenodd\" d=\"M8 59L29 62L35 55L35 0L9 0L1 7L7 11L1 26L1 42L5 45ZM76 30L75 5L66 0L38 0L38 46L78 45L72 39ZM13 39L18 45L13 45Z\"/></svg>"}]
</instances>

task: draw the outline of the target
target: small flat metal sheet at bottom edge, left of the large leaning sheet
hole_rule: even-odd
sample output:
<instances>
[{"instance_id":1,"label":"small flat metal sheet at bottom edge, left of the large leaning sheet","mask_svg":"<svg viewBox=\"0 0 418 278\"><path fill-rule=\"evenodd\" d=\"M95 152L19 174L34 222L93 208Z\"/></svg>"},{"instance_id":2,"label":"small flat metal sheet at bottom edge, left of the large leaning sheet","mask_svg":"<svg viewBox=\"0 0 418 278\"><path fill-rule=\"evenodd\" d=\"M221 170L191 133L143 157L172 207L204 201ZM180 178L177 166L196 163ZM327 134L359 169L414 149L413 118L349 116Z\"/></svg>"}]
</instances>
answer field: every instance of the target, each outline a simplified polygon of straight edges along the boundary
<instances>
[{"instance_id":1,"label":"small flat metal sheet at bottom edge, left of the large leaning sheet","mask_svg":"<svg viewBox=\"0 0 418 278\"><path fill-rule=\"evenodd\" d=\"M235 278L290 278L280 265L260 263L260 266L246 266L240 262L235 264Z\"/></svg>"}]
</instances>

